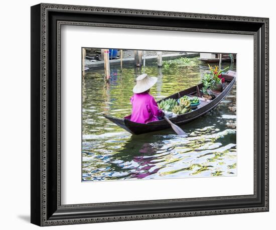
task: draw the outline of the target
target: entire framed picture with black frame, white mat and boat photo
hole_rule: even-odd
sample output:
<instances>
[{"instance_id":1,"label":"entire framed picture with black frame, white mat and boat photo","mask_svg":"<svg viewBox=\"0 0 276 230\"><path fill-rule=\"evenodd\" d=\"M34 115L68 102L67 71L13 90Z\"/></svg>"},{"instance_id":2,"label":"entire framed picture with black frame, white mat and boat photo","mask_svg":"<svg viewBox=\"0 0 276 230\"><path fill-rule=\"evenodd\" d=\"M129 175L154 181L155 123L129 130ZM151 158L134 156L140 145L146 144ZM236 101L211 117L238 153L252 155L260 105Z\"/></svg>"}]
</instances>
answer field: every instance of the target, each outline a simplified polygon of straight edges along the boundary
<instances>
[{"instance_id":1,"label":"entire framed picture with black frame, white mat and boat photo","mask_svg":"<svg viewBox=\"0 0 276 230\"><path fill-rule=\"evenodd\" d=\"M31 8L31 222L268 211L268 19Z\"/></svg>"}]
</instances>

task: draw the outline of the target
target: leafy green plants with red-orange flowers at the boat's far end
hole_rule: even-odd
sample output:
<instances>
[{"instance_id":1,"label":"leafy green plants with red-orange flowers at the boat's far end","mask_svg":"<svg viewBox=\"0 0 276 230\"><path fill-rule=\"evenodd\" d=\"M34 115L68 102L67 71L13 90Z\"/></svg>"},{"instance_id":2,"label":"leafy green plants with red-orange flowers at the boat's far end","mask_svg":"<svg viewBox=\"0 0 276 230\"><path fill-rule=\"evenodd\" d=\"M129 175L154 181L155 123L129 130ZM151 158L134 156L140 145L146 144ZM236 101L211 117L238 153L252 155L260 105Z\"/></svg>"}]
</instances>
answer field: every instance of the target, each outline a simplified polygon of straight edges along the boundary
<instances>
[{"instance_id":1,"label":"leafy green plants with red-orange flowers at the boat's far end","mask_svg":"<svg viewBox=\"0 0 276 230\"><path fill-rule=\"evenodd\" d=\"M212 67L209 65L210 72L205 73L204 78L202 80L202 92L204 98L212 99L212 90L220 92L222 91L225 84L225 79L224 77L222 77L222 72L227 70L228 68L229 67L226 67L222 70L218 70L218 66Z\"/></svg>"}]
</instances>

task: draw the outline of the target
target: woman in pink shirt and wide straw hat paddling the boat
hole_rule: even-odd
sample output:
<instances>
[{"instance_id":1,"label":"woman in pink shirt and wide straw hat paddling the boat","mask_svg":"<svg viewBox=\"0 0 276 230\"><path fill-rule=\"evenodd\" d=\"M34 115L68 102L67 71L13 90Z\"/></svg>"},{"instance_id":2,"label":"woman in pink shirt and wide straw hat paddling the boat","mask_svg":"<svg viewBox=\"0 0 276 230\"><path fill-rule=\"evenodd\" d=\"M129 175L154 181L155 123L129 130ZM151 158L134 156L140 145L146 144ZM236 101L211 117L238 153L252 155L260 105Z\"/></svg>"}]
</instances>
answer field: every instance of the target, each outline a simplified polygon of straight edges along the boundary
<instances>
[{"instance_id":1,"label":"woman in pink shirt and wide straw hat paddling the boat","mask_svg":"<svg viewBox=\"0 0 276 230\"><path fill-rule=\"evenodd\" d=\"M158 108L154 97L149 93L151 87L157 82L157 77L149 77L142 74L136 78L136 85L133 87L132 113L125 117L131 122L143 123L158 121L163 116L163 111Z\"/></svg>"}]
</instances>

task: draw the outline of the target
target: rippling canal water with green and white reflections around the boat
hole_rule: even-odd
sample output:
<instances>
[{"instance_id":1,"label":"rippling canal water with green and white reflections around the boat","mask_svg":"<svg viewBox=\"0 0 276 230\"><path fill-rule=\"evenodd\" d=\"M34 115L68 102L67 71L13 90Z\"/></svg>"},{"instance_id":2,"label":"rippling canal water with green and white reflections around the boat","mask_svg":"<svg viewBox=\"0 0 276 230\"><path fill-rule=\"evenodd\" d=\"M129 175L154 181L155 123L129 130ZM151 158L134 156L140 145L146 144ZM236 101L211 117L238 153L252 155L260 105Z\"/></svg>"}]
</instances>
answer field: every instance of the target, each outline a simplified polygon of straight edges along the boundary
<instances>
[{"instance_id":1,"label":"rippling canal water with green and white reflections around the boat","mask_svg":"<svg viewBox=\"0 0 276 230\"><path fill-rule=\"evenodd\" d=\"M230 63L222 67L229 66ZM235 65L230 69L235 71ZM151 94L159 100L201 82L208 66L196 58L148 64L157 76ZM82 80L82 181L235 176L236 87L205 116L181 126L188 137L171 130L131 135L103 117L131 113L130 97L142 68L92 69Z\"/></svg>"}]
</instances>

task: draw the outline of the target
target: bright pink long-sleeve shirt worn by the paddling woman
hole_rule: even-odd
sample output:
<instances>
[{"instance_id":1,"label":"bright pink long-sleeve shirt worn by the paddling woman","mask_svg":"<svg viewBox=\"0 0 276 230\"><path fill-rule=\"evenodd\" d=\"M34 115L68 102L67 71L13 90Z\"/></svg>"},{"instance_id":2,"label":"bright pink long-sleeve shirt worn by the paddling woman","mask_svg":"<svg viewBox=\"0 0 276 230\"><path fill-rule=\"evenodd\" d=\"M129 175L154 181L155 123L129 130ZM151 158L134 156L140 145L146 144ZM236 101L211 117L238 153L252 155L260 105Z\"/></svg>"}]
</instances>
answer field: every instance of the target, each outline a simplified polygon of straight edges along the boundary
<instances>
[{"instance_id":1,"label":"bright pink long-sleeve shirt worn by the paddling woman","mask_svg":"<svg viewBox=\"0 0 276 230\"><path fill-rule=\"evenodd\" d=\"M130 119L131 122L146 124L158 121L157 117L163 114L154 97L148 92L134 93L130 102L132 103L132 113L125 119Z\"/></svg>"}]
</instances>

